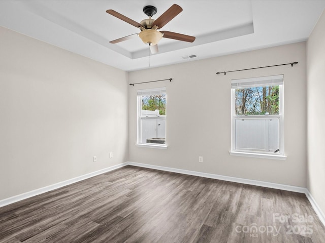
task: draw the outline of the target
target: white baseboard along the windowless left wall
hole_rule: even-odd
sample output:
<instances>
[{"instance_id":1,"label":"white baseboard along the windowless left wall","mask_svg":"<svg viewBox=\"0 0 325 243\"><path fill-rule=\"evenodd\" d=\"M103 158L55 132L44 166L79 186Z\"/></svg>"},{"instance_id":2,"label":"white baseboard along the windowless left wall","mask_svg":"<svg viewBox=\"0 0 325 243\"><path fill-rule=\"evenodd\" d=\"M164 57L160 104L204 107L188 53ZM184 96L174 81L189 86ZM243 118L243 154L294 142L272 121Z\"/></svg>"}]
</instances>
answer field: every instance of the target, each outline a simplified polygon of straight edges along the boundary
<instances>
[{"instance_id":1,"label":"white baseboard along the windowless left wall","mask_svg":"<svg viewBox=\"0 0 325 243\"><path fill-rule=\"evenodd\" d=\"M48 192L48 191L51 191L51 190L54 190L54 189L57 189L57 188L60 188L60 187L63 187L63 186L68 186L68 185L76 183L78 181L82 181L82 180L88 179L90 177L94 177L94 176L97 176L97 175L100 175L100 174L103 174L103 173L106 173L106 172L109 172L109 171L116 170L118 168L126 166L127 164L128 163L125 162L125 163L118 164L118 165L115 165L115 166L111 166L111 167L108 167L108 168L105 168L105 169L102 169L102 170L99 170L99 171L91 172L91 173L86 174L86 175L78 176L78 177L75 177L75 178L72 178L72 179L69 179L69 180L66 180L66 181L58 182L58 183L55 183L53 185L45 186L45 187L42 187L42 188L39 188L39 189L36 189L36 190L28 191L28 192L25 192L25 193L22 193L22 194L19 194L19 195L16 195L16 196L5 198L3 200L0 200L0 208L3 207L3 206L9 205L9 204L16 203L17 201L20 201L20 200L27 199L27 198L32 197L32 196L42 194L44 192Z\"/></svg>"}]
</instances>

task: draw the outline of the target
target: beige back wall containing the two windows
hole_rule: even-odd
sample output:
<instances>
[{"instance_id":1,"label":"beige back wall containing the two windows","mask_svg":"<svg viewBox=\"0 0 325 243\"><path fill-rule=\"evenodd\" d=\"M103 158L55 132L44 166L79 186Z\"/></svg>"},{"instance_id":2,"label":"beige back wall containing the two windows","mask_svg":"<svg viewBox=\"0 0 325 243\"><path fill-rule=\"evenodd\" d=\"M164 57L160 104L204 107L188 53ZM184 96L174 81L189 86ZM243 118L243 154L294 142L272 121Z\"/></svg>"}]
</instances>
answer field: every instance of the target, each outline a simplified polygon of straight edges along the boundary
<instances>
[{"instance_id":1,"label":"beige back wall containing the two windows","mask_svg":"<svg viewBox=\"0 0 325 243\"><path fill-rule=\"evenodd\" d=\"M216 75L250 67L279 66ZM231 156L231 79L284 74L286 160ZM306 43L134 71L129 83L129 160L306 187ZM167 87L167 150L137 147L137 89ZM203 156L203 163L199 163Z\"/></svg>"}]
</instances>

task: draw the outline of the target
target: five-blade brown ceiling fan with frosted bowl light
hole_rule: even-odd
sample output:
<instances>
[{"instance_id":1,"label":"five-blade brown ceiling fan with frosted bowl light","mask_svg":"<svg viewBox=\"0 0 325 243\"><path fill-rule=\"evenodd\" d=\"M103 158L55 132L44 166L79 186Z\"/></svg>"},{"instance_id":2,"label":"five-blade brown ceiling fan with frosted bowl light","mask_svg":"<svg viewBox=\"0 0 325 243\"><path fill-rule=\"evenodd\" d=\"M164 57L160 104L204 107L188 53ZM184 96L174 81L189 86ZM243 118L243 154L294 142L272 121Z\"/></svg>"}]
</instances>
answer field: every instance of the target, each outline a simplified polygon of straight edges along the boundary
<instances>
[{"instance_id":1,"label":"five-blade brown ceiling fan with frosted bowl light","mask_svg":"<svg viewBox=\"0 0 325 243\"><path fill-rule=\"evenodd\" d=\"M177 39L183 42L193 42L195 40L194 36L179 34L171 31L158 31L158 29L164 27L169 21L175 18L182 11L183 9L180 6L174 4L168 10L166 10L165 13L163 13L162 15L160 15L160 17L154 20L151 19L151 17L157 13L157 9L154 6L145 6L143 8L143 12L148 15L149 19L144 19L140 23L138 23L137 21L127 18L126 16L117 13L112 9L109 9L106 11L108 14L111 14L114 17L119 18L125 21L126 23L129 23L141 30L140 33L131 34L122 38L114 39L114 41L110 41L110 43L115 44L126 41L127 39L131 39L135 36L139 36L144 44L150 46L150 51L152 54L154 54L158 52L157 44L163 37Z\"/></svg>"}]
</instances>

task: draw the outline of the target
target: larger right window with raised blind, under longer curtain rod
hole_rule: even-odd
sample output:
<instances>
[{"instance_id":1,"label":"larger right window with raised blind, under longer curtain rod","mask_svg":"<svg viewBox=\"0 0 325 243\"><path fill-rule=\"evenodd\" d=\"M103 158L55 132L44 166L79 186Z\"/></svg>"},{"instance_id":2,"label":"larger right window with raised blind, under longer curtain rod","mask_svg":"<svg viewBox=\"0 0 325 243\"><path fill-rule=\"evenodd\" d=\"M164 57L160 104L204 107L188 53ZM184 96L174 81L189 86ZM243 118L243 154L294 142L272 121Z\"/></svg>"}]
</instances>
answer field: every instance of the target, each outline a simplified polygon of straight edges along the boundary
<instances>
[{"instance_id":1,"label":"larger right window with raised blind, under longer curtain rod","mask_svg":"<svg viewBox=\"0 0 325 243\"><path fill-rule=\"evenodd\" d=\"M284 155L283 75L232 80L232 152Z\"/></svg>"}]
</instances>

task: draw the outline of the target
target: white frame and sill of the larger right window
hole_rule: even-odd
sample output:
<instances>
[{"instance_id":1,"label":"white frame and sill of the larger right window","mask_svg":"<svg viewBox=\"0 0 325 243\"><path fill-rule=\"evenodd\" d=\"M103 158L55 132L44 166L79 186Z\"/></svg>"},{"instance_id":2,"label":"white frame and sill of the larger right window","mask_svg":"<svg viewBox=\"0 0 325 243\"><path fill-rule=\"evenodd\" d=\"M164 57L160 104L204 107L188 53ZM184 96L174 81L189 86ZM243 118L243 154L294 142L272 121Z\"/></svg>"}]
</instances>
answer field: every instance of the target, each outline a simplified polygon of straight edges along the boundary
<instances>
[{"instance_id":1,"label":"white frame and sill of the larger right window","mask_svg":"<svg viewBox=\"0 0 325 243\"><path fill-rule=\"evenodd\" d=\"M235 90L237 88L249 88L259 87L263 85L279 85L279 114L278 115L236 115L235 113ZM231 155L235 156L248 156L259 158L271 158L271 159L285 159L284 155L284 88L283 88L283 75L274 75L266 77L254 77L244 79L233 79L231 86ZM236 119L279 119L279 153L267 152L267 151L254 151L247 149L236 148Z\"/></svg>"}]
</instances>

